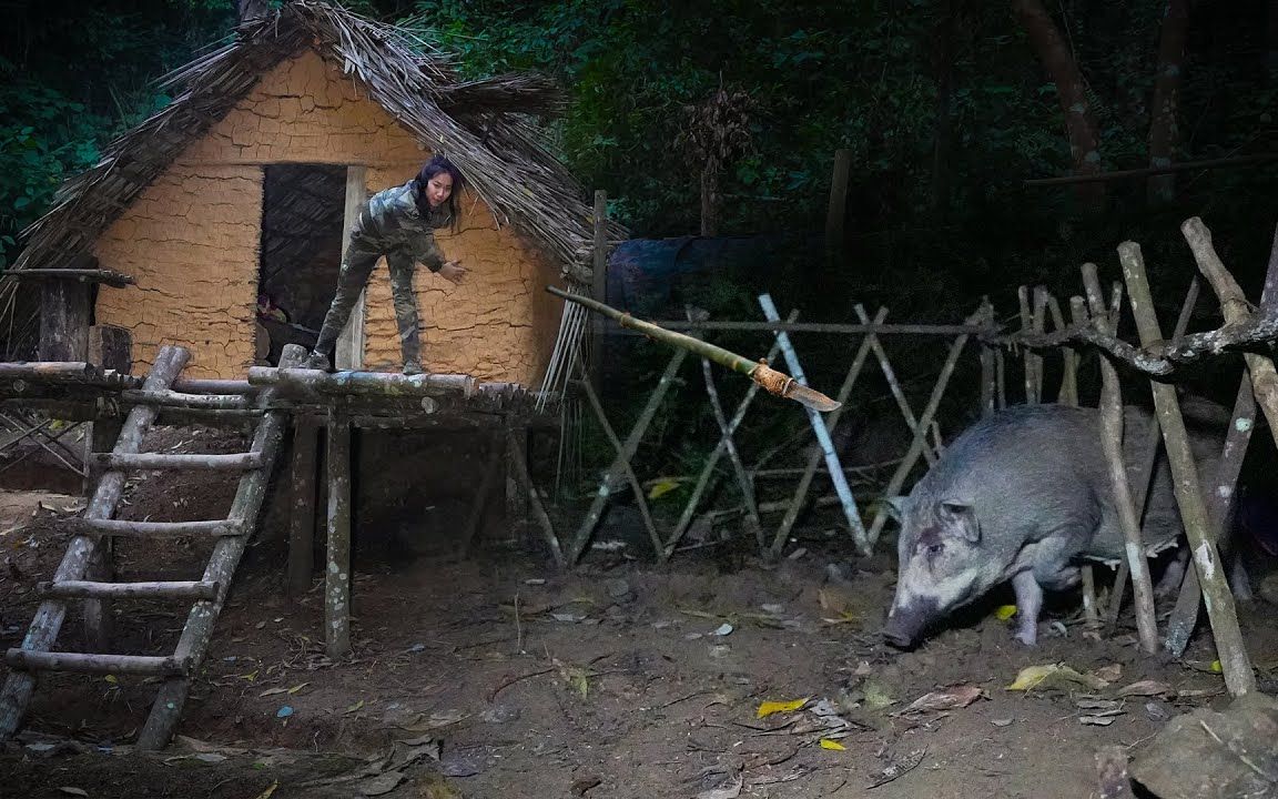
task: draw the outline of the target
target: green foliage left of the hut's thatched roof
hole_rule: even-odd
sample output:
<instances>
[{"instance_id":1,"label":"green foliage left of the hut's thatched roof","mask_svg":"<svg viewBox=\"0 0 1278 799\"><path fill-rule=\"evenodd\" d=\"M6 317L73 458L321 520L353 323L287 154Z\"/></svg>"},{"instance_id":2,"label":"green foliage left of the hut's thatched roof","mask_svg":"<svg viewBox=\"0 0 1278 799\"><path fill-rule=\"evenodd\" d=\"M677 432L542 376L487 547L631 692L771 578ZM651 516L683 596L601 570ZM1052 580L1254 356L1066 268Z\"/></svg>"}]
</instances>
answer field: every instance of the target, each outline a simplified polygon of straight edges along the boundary
<instances>
[{"instance_id":1,"label":"green foliage left of the hut's thatched roof","mask_svg":"<svg viewBox=\"0 0 1278 799\"><path fill-rule=\"evenodd\" d=\"M231 0L22 4L0 31L0 268L58 187L169 102L152 82L229 33Z\"/></svg>"}]
</instances>

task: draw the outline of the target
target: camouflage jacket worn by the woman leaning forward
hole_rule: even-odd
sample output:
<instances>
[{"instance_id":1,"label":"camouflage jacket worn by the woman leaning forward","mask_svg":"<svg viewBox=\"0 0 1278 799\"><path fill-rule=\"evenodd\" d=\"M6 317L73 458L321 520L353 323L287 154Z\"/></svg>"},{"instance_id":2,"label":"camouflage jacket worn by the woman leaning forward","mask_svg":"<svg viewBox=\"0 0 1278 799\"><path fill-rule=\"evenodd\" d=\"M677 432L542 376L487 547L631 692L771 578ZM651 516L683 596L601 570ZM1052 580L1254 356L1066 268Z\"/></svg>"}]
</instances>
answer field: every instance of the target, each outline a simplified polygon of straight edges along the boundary
<instances>
[{"instance_id":1,"label":"camouflage jacket worn by the woman leaning forward","mask_svg":"<svg viewBox=\"0 0 1278 799\"><path fill-rule=\"evenodd\" d=\"M446 205L423 216L417 206L414 182L409 180L373 194L359 208L350 242L380 253L403 252L437 272L443 266L443 253L435 243L435 230L450 221Z\"/></svg>"}]
</instances>

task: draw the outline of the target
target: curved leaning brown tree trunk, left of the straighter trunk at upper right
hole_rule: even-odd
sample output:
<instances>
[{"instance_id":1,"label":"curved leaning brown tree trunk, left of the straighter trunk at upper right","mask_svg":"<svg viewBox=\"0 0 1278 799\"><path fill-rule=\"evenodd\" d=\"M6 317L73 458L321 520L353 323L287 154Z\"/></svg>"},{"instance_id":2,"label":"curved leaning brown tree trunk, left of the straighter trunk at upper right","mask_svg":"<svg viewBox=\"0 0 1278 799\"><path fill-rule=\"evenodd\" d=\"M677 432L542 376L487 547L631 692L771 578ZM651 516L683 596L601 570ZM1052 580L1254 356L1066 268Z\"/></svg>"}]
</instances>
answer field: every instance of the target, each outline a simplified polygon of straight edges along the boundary
<instances>
[{"instance_id":1,"label":"curved leaning brown tree trunk, left of the straighter trunk at upper right","mask_svg":"<svg viewBox=\"0 0 1278 799\"><path fill-rule=\"evenodd\" d=\"M1039 60L1043 61L1048 77L1056 84L1061 110L1065 111L1065 129L1070 138L1074 171L1080 175L1099 173L1100 134L1082 88L1079 63L1040 0L1012 0L1012 10L1025 28ZM1080 183L1077 196L1085 208L1100 211L1105 202L1104 183Z\"/></svg>"}]
</instances>

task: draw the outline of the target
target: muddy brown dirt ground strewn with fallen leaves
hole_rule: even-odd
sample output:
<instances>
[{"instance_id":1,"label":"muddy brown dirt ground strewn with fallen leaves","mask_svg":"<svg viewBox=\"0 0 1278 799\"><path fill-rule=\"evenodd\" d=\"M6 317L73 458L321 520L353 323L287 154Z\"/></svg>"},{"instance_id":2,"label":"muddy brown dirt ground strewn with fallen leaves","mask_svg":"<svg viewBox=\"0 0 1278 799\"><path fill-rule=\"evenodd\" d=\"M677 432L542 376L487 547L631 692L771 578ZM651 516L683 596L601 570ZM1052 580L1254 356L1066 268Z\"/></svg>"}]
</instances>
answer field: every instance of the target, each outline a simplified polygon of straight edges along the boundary
<instances>
[{"instance_id":1,"label":"muddy brown dirt ground strewn with fallen leaves","mask_svg":"<svg viewBox=\"0 0 1278 799\"><path fill-rule=\"evenodd\" d=\"M243 445L169 435L167 450ZM233 490L176 479L189 482L139 481L121 516L215 514ZM0 497L0 647L20 643L35 584L65 545L58 519L78 502ZM1074 799L1095 795L1100 747L1136 756L1169 717L1227 701L1206 635L1183 661L1149 658L1130 626L1100 639L1070 602L1049 609L1036 649L993 614L1010 594L914 652L886 647L877 630L893 557L854 560L847 542L819 529L780 565L731 543L662 568L594 552L569 575L534 547L495 542L470 559L366 559L354 575L354 651L334 662L318 574L308 593L284 594L282 519L267 518L179 740L133 750L148 680L45 676L26 731L0 752L0 795ZM204 552L124 542L118 556L125 579L194 579ZM119 651L148 655L171 648L185 615L157 602L115 610ZM1273 606L1240 612L1273 692ZM79 626L73 612L64 648L79 643ZM1049 663L1091 685L1007 689L1022 669ZM1158 695L1120 697L1143 680ZM934 692L948 693L911 710ZM760 713L792 701L806 702Z\"/></svg>"}]
</instances>

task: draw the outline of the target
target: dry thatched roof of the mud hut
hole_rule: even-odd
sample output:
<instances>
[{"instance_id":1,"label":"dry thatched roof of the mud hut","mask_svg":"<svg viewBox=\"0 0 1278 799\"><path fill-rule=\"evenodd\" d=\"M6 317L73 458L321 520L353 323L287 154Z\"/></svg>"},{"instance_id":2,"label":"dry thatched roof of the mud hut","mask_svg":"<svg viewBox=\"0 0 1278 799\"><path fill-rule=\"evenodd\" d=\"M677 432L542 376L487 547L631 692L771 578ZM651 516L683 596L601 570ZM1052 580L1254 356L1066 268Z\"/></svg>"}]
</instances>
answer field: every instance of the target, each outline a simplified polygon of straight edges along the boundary
<instances>
[{"instance_id":1,"label":"dry thatched roof of the mud hut","mask_svg":"<svg viewBox=\"0 0 1278 799\"><path fill-rule=\"evenodd\" d=\"M555 87L532 74L461 81L446 52L412 32L313 0L245 22L233 43L165 77L161 86L175 91L174 101L61 187L52 208L24 231L27 245L13 268L66 265L86 253L263 73L305 47L358 78L423 146L446 153L498 224L525 234L570 279L589 283L593 207L528 116L562 105ZM625 235L610 226L611 240Z\"/></svg>"}]
</instances>

